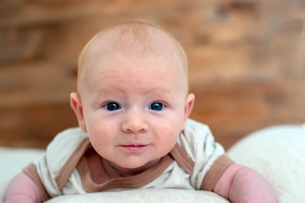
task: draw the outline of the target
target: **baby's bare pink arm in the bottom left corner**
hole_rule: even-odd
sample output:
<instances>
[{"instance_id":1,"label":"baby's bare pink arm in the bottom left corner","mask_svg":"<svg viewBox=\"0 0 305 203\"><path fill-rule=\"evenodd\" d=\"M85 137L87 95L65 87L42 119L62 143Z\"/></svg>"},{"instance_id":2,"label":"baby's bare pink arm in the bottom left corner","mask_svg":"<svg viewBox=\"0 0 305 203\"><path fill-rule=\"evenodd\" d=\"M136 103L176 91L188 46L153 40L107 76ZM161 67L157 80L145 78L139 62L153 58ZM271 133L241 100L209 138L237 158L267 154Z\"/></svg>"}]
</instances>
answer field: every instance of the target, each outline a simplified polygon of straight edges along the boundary
<instances>
[{"instance_id":1,"label":"baby's bare pink arm in the bottom left corner","mask_svg":"<svg viewBox=\"0 0 305 203\"><path fill-rule=\"evenodd\" d=\"M5 203L41 203L42 195L36 183L24 172L10 182L5 193Z\"/></svg>"}]
</instances>

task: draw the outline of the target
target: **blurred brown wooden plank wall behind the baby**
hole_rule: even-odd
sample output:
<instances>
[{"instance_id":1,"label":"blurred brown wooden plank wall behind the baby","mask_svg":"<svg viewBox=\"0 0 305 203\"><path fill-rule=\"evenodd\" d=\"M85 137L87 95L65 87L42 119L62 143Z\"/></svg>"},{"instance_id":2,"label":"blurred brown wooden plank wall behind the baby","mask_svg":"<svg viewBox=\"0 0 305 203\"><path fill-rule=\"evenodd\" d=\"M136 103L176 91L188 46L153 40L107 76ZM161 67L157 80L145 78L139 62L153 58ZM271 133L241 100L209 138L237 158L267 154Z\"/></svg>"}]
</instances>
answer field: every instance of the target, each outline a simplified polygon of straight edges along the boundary
<instances>
[{"instance_id":1,"label":"blurred brown wooden plank wall behind the baby","mask_svg":"<svg viewBox=\"0 0 305 203\"><path fill-rule=\"evenodd\" d=\"M69 106L84 44L144 18L185 47L191 118L227 149L254 130L305 123L302 0L7 0L0 2L0 146L45 148L76 126Z\"/></svg>"}]
</instances>

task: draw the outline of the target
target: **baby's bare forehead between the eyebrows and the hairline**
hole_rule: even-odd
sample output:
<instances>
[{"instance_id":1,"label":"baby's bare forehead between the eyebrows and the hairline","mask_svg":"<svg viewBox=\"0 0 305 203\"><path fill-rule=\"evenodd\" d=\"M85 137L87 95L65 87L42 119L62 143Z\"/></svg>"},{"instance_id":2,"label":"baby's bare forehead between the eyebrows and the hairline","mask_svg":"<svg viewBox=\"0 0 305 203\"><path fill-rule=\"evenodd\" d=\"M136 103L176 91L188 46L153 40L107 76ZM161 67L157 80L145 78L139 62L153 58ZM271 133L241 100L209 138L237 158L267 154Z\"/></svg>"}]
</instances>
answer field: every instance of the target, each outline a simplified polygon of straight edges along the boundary
<instances>
[{"instance_id":1,"label":"baby's bare forehead between the eyebrows and the hairline","mask_svg":"<svg viewBox=\"0 0 305 203\"><path fill-rule=\"evenodd\" d=\"M86 74L84 85L93 92L107 89L176 92L179 89L179 71L173 66L161 56L130 59L113 55Z\"/></svg>"}]
</instances>

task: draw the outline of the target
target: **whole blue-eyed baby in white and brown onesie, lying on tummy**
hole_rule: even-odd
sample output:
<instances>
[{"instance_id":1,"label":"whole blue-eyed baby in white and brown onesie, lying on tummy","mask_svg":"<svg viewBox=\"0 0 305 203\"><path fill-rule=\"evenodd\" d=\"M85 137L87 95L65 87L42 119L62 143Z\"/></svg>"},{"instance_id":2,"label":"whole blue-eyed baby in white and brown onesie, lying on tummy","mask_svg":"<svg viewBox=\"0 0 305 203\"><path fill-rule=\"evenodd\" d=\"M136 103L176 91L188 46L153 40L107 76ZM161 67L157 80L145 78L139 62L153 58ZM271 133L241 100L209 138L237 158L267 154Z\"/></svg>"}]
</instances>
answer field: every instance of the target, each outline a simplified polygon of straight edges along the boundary
<instances>
[{"instance_id":1,"label":"whole blue-eyed baby in white and brown onesie, lying on tummy","mask_svg":"<svg viewBox=\"0 0 305 203\"><path fill-rule=\"evenodd\" d=\"M277 202L256 171L235 164L208 126L188 119L188 62L161 28L142 21L108 27L78 61L71 106L79 127L9 184L5 202L134 188L213 191L232 202Z\"/></svg>"}]
</instances>

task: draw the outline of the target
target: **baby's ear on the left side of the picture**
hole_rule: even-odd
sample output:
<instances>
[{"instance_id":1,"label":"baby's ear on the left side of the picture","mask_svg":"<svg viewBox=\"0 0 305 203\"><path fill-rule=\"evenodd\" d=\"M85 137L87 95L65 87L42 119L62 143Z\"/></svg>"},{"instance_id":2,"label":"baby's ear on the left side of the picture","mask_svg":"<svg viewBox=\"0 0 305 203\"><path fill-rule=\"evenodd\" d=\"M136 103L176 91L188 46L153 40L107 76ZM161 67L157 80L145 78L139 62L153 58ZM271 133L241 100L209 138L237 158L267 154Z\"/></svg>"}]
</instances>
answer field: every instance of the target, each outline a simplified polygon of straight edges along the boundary
<instances>
[{"instance_id":1,"label":"baby's ear on the left side of the picture","mask_svg":"<svg viewBox=\"0 0 305 203\"><path fill-rule=\"evenodd\" d=\"M77 93L71 93L70 94L70 105L73 108L79 127L84 131L87 132L86 124L84 121L84 115L83 115L83 109L81 105L80 96Z\"/></svg>"}]
</instances>

